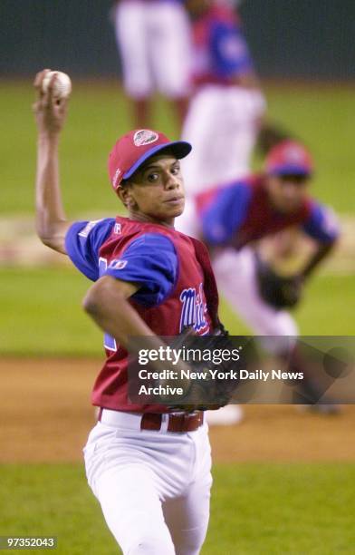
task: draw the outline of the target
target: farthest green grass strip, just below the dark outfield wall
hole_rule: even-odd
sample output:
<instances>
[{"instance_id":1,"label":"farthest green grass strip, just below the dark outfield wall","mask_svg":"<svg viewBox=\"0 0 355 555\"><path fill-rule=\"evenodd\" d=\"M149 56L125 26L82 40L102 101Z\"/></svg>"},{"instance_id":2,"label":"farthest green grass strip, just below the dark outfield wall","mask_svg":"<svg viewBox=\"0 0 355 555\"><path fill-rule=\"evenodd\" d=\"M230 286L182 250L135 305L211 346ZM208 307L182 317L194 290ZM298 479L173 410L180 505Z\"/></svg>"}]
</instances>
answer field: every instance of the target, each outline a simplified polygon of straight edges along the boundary
<instances>
[{"instance_id":1,"label":"farthest green grass strip, just below the dark outfield wall","mask_svg":"<svg viewBox=\"0 0 355 555\"><path fill-rule=\"evenodd\" d=\"M73 83L72 101L62 135L62 190L70 217L112 213L106 161L121 133L130 129L129 105L117 83ZM313 190L341 212L354 213L353 88L269 85L270 117L283 123L312 148L316 160ZM2 214L33 213L35 128L31 83L2 83ZM172 138L177 127L167 102L154 105L155 126Z\"/></svg>"}]
</instances>

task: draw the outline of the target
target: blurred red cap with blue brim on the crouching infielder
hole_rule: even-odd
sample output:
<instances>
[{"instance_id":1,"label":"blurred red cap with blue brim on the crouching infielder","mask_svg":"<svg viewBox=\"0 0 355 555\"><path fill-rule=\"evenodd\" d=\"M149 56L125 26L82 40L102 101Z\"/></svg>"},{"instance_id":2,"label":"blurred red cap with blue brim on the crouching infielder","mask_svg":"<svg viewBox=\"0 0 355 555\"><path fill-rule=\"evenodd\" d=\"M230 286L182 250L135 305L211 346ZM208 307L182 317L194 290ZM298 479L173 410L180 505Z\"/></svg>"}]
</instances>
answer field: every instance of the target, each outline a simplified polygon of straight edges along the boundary
<instances>
[{"instance_id":1,"label":"blurred red cap with blue brim on the crouching infielder","mask_svg":"<svg viewBox=\"0 0 355 555\"><path fill-rule=\"evenodd\" d=\"M283 141L269 152L265 161L268 175L303 175L313 172L313 161L309 151L297 141Z\"/></svg>"}]
</instances>

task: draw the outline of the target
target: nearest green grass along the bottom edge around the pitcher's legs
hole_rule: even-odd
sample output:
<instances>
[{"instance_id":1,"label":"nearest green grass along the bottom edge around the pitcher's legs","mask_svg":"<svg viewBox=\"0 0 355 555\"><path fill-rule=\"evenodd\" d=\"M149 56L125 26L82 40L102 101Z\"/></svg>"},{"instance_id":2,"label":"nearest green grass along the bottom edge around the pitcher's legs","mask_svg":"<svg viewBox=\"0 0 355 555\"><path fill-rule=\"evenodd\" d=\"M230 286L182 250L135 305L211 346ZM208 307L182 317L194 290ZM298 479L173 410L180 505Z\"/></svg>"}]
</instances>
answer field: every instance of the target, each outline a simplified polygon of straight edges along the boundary
<instances>
[{"instance_id":1,"label":"nearest green grass along the bottom edge around the pitcher's legs","mask_svg":"<svg viewBox=\"0 0 355 555\"><path fill-rule=\"evenodd\" d=\"M54 535L61 555L117 552L82 465L0 470L0 535ZM202 555L354 552L354 464L224 464L214 479Z\"/></svg>"}]
</instances>

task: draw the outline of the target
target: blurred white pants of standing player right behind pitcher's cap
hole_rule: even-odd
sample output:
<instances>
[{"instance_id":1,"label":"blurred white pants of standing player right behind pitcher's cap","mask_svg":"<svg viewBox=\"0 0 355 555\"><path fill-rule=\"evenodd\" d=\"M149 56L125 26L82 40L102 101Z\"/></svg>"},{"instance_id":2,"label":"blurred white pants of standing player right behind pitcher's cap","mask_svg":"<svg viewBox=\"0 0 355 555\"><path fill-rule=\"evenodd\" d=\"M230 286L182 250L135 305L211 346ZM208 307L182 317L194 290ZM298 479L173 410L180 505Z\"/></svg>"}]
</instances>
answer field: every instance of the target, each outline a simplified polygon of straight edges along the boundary
<instances>
[{"instance_id":1,"label":"blurred white pants of standing player right behind pitcher's cap","mask_svg":"<svg viewBox=\"0 0 355 555\"><path fill-rule=\"evenodd\" d=\"M264 110L256 89L208 84L197 91L182 131L193 147L181 161L187 195L249 173Z\"/></svg>"}]
</instances>

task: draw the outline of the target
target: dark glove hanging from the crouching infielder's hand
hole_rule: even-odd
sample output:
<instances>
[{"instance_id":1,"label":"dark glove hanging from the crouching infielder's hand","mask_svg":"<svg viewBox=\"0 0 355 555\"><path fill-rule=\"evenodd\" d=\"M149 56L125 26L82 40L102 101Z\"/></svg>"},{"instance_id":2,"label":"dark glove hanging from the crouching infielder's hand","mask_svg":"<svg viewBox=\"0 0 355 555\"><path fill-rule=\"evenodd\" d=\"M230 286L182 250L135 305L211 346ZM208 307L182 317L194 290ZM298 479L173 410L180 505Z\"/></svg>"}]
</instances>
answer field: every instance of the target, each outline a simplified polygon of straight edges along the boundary
<instances>
[{"instance_id":1,"label":"dark glove hanging from the crouching infielder's hand","mask_svg":"<svg viewBox=\"0 0 355 555\"><path fill-rule=\"evenodd\" d=\"M283 277L260 258L256 258L256 277L260 296L274 308L292 308L302 297L300 276Z\"/></svg>"}]
</instances>

